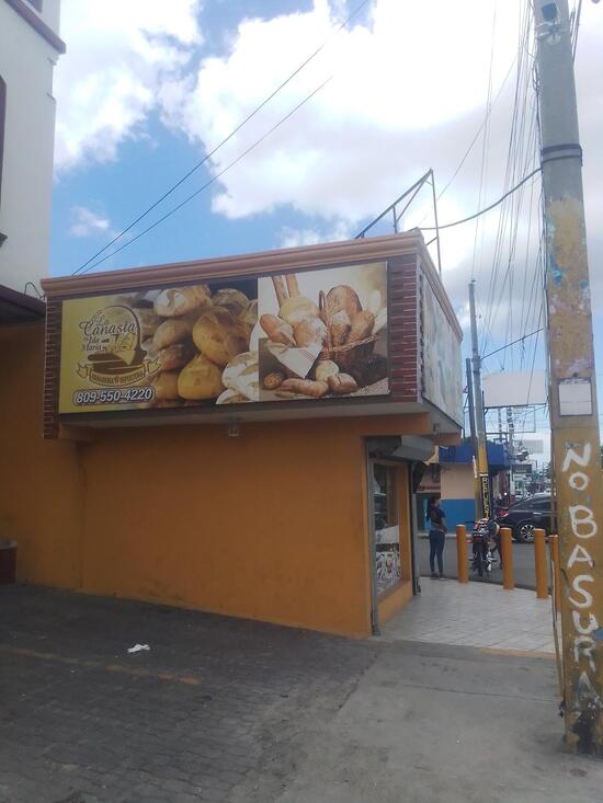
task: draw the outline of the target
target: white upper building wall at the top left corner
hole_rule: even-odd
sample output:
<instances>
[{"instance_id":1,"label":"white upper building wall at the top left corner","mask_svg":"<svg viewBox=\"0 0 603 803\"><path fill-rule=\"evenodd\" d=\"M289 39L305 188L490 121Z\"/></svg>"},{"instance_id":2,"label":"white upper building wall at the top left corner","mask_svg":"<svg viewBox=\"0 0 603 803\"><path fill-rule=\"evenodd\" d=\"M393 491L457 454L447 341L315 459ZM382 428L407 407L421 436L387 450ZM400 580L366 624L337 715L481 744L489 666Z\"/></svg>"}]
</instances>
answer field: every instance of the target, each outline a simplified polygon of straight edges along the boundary
<instances>
[{"instance_id":1,"label":"white upper building wall at the top left corner","mask_svg":"<svg viewBox=\"0 0 603 803\"><path fill-rule=\"evenodd\" d=\"M48 273L59 11L0 0L0 285L20 292Z\"/></svg>"}]
</instances>

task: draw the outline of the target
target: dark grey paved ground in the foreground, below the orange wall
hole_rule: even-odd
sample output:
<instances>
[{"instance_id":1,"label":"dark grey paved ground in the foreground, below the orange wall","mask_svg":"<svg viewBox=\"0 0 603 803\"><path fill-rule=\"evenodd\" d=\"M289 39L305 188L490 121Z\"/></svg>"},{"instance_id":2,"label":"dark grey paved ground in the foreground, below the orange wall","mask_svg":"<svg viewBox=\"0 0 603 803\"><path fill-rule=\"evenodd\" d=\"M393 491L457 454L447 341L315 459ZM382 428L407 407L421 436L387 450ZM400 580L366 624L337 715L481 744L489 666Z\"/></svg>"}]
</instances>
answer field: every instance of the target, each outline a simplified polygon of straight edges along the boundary
<instances>
[{"instance_id":1,"label":"dark grey paved ground in the foreground, below the orange wall","mask_svg":"<svg viewBox=\"0 0 603 803\"><path fill-rule=\"evenodd\" d=\"M414 626L459 610L436 585ZM351 641L38 588L0 605L2 803L601 801L550 655L419 643L401 619Z\"/></svg>"}]
</instances>

